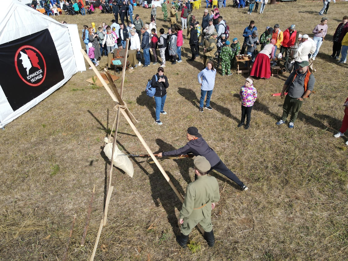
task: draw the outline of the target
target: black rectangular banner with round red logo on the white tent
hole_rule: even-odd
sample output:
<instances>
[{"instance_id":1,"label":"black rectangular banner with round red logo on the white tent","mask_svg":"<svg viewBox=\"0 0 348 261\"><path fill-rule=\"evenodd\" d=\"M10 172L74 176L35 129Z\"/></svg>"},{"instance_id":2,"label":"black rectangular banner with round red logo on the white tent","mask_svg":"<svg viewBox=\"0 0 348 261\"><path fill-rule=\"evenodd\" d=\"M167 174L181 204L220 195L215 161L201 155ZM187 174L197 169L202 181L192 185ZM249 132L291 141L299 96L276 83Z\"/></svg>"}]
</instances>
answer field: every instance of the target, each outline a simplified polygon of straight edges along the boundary
<instances>
[{"instance_id":1,"label":"black rectangular banner with round red logo on the white tent","mask_svg":"<svg viewBox=\"0 0 348 261\"><path fill-rule=\"evenodd\" d=\"M14 111L63 79L48 29L0 45L0 85Z\"/></svg>"}]
</instances>

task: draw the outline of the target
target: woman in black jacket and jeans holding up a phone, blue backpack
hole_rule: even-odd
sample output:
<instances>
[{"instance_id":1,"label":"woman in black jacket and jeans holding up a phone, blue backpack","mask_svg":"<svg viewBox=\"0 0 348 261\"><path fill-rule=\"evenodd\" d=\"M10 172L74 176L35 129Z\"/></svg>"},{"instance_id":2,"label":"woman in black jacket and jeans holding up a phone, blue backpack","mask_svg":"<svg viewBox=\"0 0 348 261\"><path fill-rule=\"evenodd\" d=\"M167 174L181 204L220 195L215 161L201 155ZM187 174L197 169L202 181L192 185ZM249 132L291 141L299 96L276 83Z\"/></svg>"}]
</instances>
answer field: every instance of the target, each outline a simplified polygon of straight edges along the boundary
<instances>
[{"instance_id":1,"label":"woman in black jacket and jeans holding up a phone, blue backpack","mask_svg":"<svg viewBox=\"0 0 348 261\"><path fill-rule=\"evenodd\" d=\"M159 116L160 114L167 114L163 108L167 98L167 88L169 87L168 78L164 75L163 67L159 67L157 74L152 76L151 86L152 88L156 88L155 95L153 96L156 102L156 123L162 125Z\"/></svg>"}]
</instances>

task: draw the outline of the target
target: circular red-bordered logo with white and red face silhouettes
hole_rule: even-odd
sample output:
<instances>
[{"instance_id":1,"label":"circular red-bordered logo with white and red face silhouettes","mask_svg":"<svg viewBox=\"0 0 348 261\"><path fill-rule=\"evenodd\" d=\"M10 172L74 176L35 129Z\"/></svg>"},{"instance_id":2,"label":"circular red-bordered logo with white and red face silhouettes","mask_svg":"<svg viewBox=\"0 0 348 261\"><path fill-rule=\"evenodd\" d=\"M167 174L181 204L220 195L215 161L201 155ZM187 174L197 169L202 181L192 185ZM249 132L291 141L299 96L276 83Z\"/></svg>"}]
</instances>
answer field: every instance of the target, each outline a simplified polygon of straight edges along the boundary
<instances>
[{"instance_id":1,"label":"circular red-bordered logo with white and red face silhouettes","mask_svg":"<svg viewBox=\"0 0 348 261\"><path fill-rule=\"evenodd\" d=\"M46 78L46 61L38 49L30 45L19 48L15 55L18 76L27 85L39 86Z\"/></svg>"}]
</instances>

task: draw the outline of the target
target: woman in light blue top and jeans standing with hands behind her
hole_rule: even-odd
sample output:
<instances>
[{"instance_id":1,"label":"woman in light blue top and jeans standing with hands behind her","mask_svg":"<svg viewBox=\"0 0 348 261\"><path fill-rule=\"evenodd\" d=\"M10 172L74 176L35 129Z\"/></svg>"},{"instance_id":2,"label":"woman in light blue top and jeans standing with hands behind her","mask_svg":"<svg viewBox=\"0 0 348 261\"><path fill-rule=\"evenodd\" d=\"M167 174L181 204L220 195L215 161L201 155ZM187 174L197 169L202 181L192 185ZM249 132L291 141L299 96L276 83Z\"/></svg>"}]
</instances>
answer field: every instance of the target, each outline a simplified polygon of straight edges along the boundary
<instances>
[{"instance_id":1,"label":"woman in light blue top and jeans standing with hands behind her","mask_svg":"<svg viewBox=\"0 0 348 261\"><path fill-rule=\"evenodd\" d=\"M203 112L203 103L204 103L205 95L207 95L207 101L205 103L204 108L208 110L213 109L210 106L210 98L212 96L214 85L215 85L215 75L216 75L216 69L214 69L214 63L212 61L209 61L207 63L207 67L198 73L198 82L201 86L199 112Z\"/></svg>"}]
</instances>

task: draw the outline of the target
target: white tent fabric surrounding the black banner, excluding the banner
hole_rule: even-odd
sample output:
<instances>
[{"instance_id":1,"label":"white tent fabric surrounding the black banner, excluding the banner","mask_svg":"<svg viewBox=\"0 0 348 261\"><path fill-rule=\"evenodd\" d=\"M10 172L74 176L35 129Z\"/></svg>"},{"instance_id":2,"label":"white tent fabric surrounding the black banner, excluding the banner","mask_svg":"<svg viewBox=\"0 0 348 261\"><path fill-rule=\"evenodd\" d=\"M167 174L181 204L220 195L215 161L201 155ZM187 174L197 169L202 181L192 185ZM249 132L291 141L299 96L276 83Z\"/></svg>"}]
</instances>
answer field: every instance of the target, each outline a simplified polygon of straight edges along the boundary
<instances>
[{"instance_id":1,"label":"white tent fabric surrounding the black banner, excluding the banner","mask_svg":"<svg viewBox=\"0 0 348 261\"><path fill-rule=\"evenodd\" d=\"M58 23L47 15L43 15L17 0L9 0L2 3L2 8L0 9L0 24L0 45L48 29L54 41L54 45L56 47L64 74L63 80L49 88L46 92L35 97L33 100L26 103L16 111L13 111L10 104L8 103L5 93L3 92L2 88L0 88L1 127L1 125L5 126L9 122L38 104L44 98L52 94L55 90L65 84L65 82L67 82L73 76L73 74L78 71L74 50L76 52L76 50L81 49L81 44L76 40L74 40L72 43L72 40L70 38L70 34L72 33L69 34L68 26ZM72 25L70 26L71 30L74 32L74 34L76 34L77 26L75 25L75 28L73 27L74 26ZM78 56L78 54L76 55ZM80 58L80 60L84 64L83 57ZM79 70L86 70L85 64L81 66L81 61L79 61ZM8 61L8 63L13 62L14 61ZM6 70L6 64L2 64L0 65L0 67Z\"/></svg>"}]
</instances>

